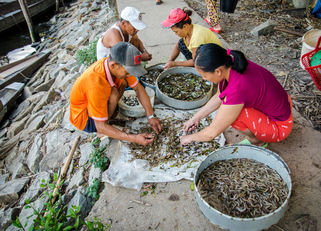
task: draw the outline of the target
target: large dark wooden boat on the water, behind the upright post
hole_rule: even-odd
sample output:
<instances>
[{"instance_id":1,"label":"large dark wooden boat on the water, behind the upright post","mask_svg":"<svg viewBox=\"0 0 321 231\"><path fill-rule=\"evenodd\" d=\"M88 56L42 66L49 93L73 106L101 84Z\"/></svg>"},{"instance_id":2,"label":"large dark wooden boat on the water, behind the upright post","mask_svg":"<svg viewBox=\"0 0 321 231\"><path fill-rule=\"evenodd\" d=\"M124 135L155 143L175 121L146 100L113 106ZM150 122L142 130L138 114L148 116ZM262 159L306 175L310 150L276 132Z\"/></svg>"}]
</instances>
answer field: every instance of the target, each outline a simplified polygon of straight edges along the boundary
<instances>
[{"instance_id":1,"label":"large dark wooden boat on the water, behind the upright post","mask_svg":"<svg viewBox=\"0 0 321 231\"><path fill-rule=\"evenodd\" d=\"M55 4L55 0L27 0L31 17L48 11ZM0 6L0 32L25 21L18 0L7 1Z\"/></svg>"}]
</instances>

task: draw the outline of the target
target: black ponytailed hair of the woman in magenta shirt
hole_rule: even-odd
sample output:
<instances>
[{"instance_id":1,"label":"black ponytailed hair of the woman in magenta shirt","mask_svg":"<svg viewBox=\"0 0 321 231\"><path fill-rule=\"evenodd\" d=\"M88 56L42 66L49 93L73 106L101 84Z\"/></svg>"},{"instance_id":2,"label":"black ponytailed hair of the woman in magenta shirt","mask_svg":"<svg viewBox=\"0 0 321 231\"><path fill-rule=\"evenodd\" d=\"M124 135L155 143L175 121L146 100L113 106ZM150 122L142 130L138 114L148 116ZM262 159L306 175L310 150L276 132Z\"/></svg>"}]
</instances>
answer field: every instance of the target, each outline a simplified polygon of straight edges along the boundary
<instances>
[{"instance_id":1,"label":"black ponytailed hair of the woman in magenta shirt","mask_svg":"<svg viewBox=\"0 0 321 231\"><path fill-rule=\"evenodd\" d=\"M248 64L244 54L237 50L230 50L230 54L234 57L234 62L223 47L208 43L196 51L194 64L203 72L214 73L215 69L224 66L225 68L232 67L235 71L243 74Z\"/></svg>"}]
</instances>

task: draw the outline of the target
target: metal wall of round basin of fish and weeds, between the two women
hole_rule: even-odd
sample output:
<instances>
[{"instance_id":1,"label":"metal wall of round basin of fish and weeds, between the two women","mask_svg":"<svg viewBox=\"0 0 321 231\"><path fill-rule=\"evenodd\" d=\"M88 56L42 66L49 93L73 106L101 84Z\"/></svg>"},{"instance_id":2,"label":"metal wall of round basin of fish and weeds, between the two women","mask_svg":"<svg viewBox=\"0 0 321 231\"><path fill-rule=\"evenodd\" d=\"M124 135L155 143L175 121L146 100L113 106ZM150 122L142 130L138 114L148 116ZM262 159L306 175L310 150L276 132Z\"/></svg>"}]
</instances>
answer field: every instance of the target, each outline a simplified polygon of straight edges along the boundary
<instances>
[{"instance_id":1,"label":"metal wall of round basin of fish and weeds, between the two women","mask_svg":"<svg viewBox=\"0 0 321 231\"><path fill-rule=\"evenodd\" d=\"M172 67L167 69L166 71L162 72L157 80L156 80L156 96L159 98L160 101L162 101L164 104L168 105L169 107L181 109L181 110L191 110L195 108L202 107L205 105L211 98L212 96L212 91L213 91L213 83L211 83L211 88L209 92L203 96L202 98L194 99L194 100L178 100L174 98L170 98L167 95L165 95L163 92L160 91L158 87L158 83L166 78L167 75L169 74L187 74L187 73L192 73L195 75L202 76L196 71L194 67Z\"/></svg>"}]
</instances>

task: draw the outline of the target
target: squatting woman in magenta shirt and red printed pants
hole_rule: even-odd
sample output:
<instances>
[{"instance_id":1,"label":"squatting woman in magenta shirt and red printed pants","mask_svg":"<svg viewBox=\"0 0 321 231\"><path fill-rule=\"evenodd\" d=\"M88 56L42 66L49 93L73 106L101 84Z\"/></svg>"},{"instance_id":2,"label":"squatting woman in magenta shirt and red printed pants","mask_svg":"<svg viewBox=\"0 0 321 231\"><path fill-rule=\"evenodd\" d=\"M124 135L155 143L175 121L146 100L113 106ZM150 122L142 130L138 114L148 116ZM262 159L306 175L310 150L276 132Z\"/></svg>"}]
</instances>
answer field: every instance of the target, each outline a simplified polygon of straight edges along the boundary
<instances>
[{"instance_id":1,"label":"squatting woman in magenta shirt and red printed pants","mask_svg":"<svg viewBox=\"0 0 321 231\"><path fill-rule=\"evenodd\" d=\"M240 51L225 50L216 44L199 48L194 63L204 80L219 87L215 96L184 124L183 131L194 131L201 119L220 109L208 127L180 136L183 145L213 140L228 126L247 135L240 143L263 147L290 134L291 98L267 69L247 60Z\"/></svg>"}]
</instances>

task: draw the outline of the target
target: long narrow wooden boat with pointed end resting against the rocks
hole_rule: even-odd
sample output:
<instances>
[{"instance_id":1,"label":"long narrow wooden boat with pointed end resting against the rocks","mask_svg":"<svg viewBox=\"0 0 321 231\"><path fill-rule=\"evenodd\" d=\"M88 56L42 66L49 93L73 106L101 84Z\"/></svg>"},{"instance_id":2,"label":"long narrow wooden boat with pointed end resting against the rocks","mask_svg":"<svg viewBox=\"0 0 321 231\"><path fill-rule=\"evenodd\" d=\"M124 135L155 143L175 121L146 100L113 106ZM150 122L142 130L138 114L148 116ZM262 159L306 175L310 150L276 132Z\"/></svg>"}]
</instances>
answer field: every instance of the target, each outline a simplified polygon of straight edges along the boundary
<instances>
[{"instance_id":1,"label":"long narrow wooden boat with pointed end resting against the rocks","mask_svg":"<svg viewBox=\"0 0 321 231\"><path fill-rule=\"evenodd\" d=\"M13 82L21 82L34 73L49 57L51 50L0 67L0 90Z\"/></svg>"}]
</instances>

